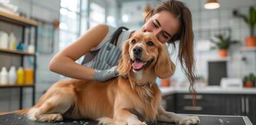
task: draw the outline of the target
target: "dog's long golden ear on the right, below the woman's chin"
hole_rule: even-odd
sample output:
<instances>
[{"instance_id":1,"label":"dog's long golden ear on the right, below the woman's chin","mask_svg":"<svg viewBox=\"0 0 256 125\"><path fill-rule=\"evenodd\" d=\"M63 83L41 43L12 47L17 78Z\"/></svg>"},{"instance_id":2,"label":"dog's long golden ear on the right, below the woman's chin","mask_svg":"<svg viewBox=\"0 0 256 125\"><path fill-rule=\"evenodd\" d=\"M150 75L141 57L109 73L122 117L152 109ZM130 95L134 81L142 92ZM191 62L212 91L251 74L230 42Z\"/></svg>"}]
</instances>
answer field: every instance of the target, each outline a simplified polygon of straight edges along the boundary
<instances>
[{"instance_id":1,"label":"dog's long golden ear on the right, below the woman's chin","mask_svg":"<svg viewBox=\"0 0 256 125\"><path fill-rule=\"evenodd\" d=\"M170 78L175 71L175 64L171 61L167 48L164 44L161 44L158 59L155 65L155 74L158 78L166 79Z\"/></svg>"}]
</instances>

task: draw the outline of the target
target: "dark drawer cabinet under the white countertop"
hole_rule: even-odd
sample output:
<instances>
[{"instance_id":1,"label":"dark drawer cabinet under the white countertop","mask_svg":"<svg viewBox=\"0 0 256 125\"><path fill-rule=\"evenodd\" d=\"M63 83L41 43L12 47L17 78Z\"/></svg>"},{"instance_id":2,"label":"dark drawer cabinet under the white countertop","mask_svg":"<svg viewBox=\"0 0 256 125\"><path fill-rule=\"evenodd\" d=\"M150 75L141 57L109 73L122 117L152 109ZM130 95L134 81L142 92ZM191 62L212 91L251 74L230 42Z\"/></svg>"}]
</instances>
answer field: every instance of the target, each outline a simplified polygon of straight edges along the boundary
<instances>
[{"instance_id":1,"label":"dark drawer cabinet under the white countertop","mask_svg":"<svg viewBox=\"0 0 256 125\"><path fill-rule=\"evenodd\" d=\"M176 94L176 113L248 116L256 124L255 94L197 94L197 106L192 106L189 93Z\"/></svg>"}]
</instances>

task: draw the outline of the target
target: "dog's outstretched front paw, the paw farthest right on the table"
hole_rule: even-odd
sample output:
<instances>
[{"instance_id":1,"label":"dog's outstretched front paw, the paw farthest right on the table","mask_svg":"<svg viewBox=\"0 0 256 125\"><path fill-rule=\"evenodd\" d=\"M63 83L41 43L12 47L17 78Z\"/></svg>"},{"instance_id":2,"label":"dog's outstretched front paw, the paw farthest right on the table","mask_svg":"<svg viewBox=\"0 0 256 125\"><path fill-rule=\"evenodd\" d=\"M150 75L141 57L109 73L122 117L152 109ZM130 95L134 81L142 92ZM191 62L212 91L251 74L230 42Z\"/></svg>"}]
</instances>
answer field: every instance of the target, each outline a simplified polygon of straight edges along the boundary
<instances>
[{"instance_id":1,"label":"dog's outstretched front paw, the paw farthest right on the table","mask_svg":"<svg viewBox=\"0 0 256 125\"><path fill-rule=\"evenodd\" d=\"M200 123L200 119L197 116L182 116L181 119L175 121L176 124L190 125Z\"/></svg>"}]
</instances>

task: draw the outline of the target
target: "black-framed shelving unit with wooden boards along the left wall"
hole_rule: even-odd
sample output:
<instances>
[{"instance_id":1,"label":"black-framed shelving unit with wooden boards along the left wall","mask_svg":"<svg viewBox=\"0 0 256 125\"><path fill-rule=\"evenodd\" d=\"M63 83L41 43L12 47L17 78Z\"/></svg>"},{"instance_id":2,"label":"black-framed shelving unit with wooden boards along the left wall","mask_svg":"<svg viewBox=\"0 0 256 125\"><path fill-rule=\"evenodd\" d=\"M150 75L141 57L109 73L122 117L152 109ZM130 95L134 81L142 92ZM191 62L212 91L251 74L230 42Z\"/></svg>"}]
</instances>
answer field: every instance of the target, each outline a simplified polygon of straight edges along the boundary
<instances>
[{"instance_id":1,"label":"black-framed shelving unit with wooden boards along the left wall","mask_svg":"<svg viewBox=\"0 0 256 125\"><path fill-rule=\"evenodd\" d=\"M7 24L6 26L16 26L21 28L21 42L24 43L25 41L25 36L26 36L26 28L28 29L34 29L34 32L29 32L29 36L34 36L34 47L35 47L35 51L36 51L36 45L37 45L37 26L39 25L39 22L37 21L33 21L30 19L26 19L24 17L20 17L17 16L15 14L10 14L8 12L4 12L4 11L0 11L0 22ZM12 28L11 28L12 29ZM15 30L15 29L13 29ZM32 37L29 37L29 42L30 39ZM9 49L3 49L0 48L0 54L4 55L2 58L5 58L5 61L1 61L1 67L5 66L9 69L10 67L10 63L8 63L8 57L12 57L15 58L15 63L14 66L18 67L18 66L23 66L24 67L24 58L25 56L32 56L33 57L33 70L34 70L34 83L33 84L29 84L29 85L4 85L4 86L0 86L0 89L4 89L4 88L18 88L19 89L19 109L23 108L23 88L32 88L32 103L34 105L35 102L35 86L36 86L36 54L35 53L28 53L26 51L18 51L18 50L9 50ZM10 59L11 60L11 59ZM18 61L18 62L16 62ZM12 62L13 63L13 62Z\"/></svg>"}]
</instances>

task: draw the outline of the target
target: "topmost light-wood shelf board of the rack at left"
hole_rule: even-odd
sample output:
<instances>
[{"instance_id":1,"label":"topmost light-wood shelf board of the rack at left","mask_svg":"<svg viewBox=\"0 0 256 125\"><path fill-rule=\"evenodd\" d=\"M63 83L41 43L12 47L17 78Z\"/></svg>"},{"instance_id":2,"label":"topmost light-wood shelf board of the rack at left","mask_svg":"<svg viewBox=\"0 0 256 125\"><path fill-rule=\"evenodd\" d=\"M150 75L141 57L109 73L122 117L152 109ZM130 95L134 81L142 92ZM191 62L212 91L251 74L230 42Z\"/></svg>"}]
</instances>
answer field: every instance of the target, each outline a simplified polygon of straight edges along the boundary
<instances>
[{"instance_id":1,"label":"topmost light-wood shelf board of the rack at left","mask_svg":"<svg viewBox=\"0 0 256 125\"><path fill-rule=\"evenodd\" d=\"M13 24L18 24L21 26L38 26L40 23L38 21L26 19L16 14L11 14L9 12L4 12L4 11L0 11L0 20L13 23Z\"/></svg>"}]
</instances>

